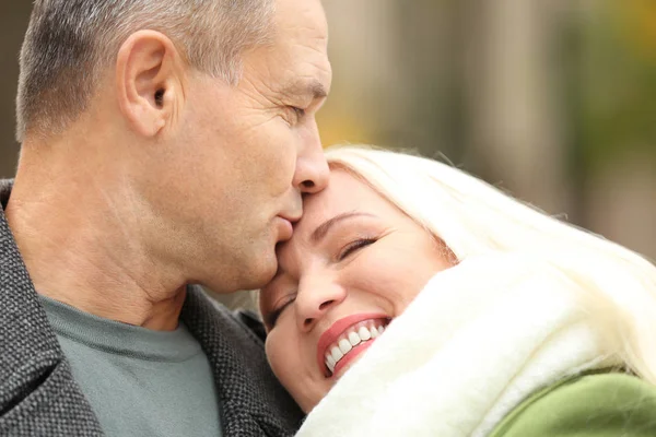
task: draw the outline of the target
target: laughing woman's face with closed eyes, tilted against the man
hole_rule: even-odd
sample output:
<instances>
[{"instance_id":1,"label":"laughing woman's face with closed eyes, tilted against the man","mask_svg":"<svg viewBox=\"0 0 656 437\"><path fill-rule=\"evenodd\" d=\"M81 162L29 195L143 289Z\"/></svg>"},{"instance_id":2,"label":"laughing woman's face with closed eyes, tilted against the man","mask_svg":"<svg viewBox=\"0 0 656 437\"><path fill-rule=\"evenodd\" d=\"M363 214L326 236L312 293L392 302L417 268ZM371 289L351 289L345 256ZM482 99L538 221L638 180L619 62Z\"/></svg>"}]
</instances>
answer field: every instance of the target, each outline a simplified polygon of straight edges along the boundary
<instances>
[{"instance_id":1,"label":"laughing woman's face with closed eyes, tilted against the man","mask_svg":"<svg viewBox=\"0 0 656 437\"><path fill-rule=\"evenodd\" d=\"M260 309L271 367L308 412L453 255L340 169L304 211Z\"/></svg>"}]
</instances>

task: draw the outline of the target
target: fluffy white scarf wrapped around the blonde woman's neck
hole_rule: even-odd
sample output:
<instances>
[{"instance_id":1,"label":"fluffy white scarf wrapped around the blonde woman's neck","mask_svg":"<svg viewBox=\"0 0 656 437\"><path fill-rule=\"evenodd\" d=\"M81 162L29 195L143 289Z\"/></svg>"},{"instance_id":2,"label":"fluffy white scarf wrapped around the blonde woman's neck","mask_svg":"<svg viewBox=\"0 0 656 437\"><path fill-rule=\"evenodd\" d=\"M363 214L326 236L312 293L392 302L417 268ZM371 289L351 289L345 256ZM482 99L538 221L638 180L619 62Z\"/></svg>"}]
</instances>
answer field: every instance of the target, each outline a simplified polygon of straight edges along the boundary
<instances>
[{"instance_id":1,"label":"fluffy white scarf wrapped around the blonde woman's neck","mask_svg":"<svg viewBox=\"0 0 656 437\"><path fill-rule=\"evenodd\" d=\"M487 436L531 392L612 363L564 281L508 255L437 273L297 436Z\"/></svg>"}]
</instances>

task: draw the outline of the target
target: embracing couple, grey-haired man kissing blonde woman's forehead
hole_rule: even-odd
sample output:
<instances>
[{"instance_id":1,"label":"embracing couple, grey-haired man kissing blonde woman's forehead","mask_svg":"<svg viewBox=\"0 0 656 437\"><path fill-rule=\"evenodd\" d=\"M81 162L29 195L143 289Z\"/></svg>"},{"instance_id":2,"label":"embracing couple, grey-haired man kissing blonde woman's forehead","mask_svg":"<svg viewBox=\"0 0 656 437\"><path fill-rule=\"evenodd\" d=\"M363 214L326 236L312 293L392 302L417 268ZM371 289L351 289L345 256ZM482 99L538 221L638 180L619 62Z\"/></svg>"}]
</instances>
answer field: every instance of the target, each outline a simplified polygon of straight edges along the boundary
<instances>
[{"instance_id":1,"label":"embracing couple, grey-haired man kissing blonde woman's forehead","mask_svg":"<svg viewBox=\"0 0 656 437\"><path fill-rule=\"evenodd\" d=\"M324 155L318 0L34 8L0 435L654 434L654 267L435 162ZM189 284L263 285L266 343Z\"/></svg>"}]
</instances>

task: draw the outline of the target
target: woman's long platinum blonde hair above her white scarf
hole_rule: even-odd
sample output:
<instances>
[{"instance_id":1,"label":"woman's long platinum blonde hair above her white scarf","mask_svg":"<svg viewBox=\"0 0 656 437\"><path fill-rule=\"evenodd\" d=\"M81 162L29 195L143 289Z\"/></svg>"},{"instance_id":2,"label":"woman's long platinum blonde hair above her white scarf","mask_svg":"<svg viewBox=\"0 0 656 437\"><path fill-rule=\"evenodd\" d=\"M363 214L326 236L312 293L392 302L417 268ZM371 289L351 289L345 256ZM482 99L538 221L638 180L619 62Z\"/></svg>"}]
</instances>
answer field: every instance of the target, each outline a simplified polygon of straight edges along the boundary
<instances>
[{"instance_id":1,"label":"woman's long platinum blonde hair above her white scarf","mask_svg":"<svg viewBox=\"0 0 656 437\"><path fill-rule=\"evenodd\" d=\"M605 346L656 385L656 267L640 255L524 204L443 163L372 146L326 151L440 238L458 260L490 252L539 257L565 274Z\"/></svg>"}]
</instances>

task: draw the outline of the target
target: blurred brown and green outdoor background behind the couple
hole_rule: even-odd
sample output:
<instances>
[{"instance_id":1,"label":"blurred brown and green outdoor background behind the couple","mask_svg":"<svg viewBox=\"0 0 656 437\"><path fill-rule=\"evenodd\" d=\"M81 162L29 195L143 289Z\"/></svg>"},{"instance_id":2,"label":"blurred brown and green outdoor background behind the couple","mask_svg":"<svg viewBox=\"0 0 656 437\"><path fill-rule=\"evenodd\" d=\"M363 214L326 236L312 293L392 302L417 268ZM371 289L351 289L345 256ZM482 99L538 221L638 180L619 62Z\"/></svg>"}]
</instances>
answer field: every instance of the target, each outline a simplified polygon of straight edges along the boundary
<instances>
[{"instance_id":1,"label":"blurred brown and green outdoor background behind the couple","mask_svg":"<svg viewBox=\"0 0 656 437\"><path fill-rule=\"evenodd\" d=\"M326 145L446 157L656 258L656 1L325 0ZM30 1L0 4L0 177Z\"/></svg>"}]
</instances>

